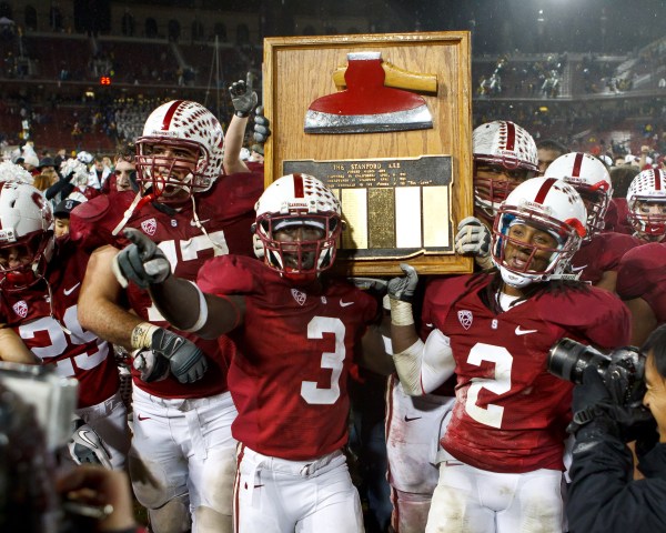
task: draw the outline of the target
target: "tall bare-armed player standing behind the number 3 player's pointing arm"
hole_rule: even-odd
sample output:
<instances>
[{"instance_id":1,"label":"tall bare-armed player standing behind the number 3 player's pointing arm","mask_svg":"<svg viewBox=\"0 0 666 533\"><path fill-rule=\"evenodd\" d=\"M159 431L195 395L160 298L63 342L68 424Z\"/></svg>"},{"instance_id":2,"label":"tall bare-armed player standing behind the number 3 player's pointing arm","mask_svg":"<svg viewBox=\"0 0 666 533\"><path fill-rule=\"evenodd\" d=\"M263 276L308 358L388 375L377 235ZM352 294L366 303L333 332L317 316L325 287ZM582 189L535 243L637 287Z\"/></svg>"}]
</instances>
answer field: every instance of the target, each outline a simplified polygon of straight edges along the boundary
<instances>
[{"instance_id":1,"label":"tall bare-armed player standing behind the number 3 player's pointing arm","mask_svg":"<svg viewBox=\"0 0 666 533\"><path fill-rule=\"evenodd\" d=\"M94 249L81 323L137 354L129 466L155 533L231 531L236 410L226 371L233 346L172 331L144 290L122 291L113 258L127 243L124 227L150 235L176 275L192 281L206 259L252 254L250 227L263 175L224 174L223 140L220 122L203 105L167 102L137 140L135 198L115 194L110 202L101 195L71 215L74 238Z\"/></svg>"}]
</instances>

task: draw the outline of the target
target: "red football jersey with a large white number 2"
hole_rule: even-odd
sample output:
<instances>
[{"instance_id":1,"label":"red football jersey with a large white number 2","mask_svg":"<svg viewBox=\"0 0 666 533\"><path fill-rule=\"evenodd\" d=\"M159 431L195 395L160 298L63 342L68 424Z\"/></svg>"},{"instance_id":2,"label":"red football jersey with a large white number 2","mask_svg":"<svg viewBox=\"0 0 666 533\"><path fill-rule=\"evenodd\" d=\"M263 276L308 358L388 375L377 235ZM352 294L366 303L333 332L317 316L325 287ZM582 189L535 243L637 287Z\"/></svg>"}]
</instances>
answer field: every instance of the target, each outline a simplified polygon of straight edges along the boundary
<instances>
[{"instance_id":1,"label":"red football jersey with a large white number 2","mask_svg":"<svg viewBox=\"0 0 666 533\"><path fill-rule=\"evenodd\" d=\"M626 345L629 313L615 294L592 286L495 314L482 300L492 275L466 293L470 275L435 280L426 292L456 363L456 403L442 445L492 472L563 469L573 385L547 371L548 350L565 336L602 349Z\"/></svg>"}]
</instances>

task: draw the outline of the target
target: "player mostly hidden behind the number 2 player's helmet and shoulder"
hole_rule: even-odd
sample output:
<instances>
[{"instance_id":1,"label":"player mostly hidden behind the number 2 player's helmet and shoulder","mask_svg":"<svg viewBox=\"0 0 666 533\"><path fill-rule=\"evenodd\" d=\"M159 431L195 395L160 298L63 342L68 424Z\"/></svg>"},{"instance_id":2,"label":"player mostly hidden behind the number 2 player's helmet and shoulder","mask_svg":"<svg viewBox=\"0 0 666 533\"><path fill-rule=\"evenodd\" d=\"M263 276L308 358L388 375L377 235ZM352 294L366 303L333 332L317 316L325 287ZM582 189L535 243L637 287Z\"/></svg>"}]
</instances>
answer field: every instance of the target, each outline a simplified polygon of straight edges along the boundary
<instances>
[{"instance_id":1,"label":"player mostly hidden behind the number 2 player's helmet and shoulder","mask_svg":"<svg viewBox=\"0 0 666 533\"><path fill-rule=\"evenodd\" d=\"M545 177L563 180L576 189L587 210L587 233L572 258L572 272L579 272L582 281L615 292L619 260L639 241L623 233L604 232L613 198L606 165L589 153L571 152L553 161Z\"/></svg>"}]
</instances>

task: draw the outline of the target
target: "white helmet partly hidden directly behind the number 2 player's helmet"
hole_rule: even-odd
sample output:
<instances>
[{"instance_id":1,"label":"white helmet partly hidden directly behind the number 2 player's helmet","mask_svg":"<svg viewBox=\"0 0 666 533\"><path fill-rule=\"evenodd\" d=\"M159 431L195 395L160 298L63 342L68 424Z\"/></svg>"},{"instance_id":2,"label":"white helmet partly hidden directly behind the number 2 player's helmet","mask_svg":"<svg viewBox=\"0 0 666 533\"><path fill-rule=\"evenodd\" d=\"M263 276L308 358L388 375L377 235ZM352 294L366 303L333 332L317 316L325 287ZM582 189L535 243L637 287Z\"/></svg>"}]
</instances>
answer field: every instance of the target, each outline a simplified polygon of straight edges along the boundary
<instances>
[{"instance_id":1,"label":"white helmet partly hidden directly behind the number 2 player's helmet","mask_svg":"<svg viewBox=\"0 0 666 533\"><path fill-rule=\"evenodd\" d=\"M587 209L586 239L604 230L613 198L610 174L604 163L589 153L565 153L548 165L544 177L563 180L578 191Z\"/></svg>"}]
</instances>

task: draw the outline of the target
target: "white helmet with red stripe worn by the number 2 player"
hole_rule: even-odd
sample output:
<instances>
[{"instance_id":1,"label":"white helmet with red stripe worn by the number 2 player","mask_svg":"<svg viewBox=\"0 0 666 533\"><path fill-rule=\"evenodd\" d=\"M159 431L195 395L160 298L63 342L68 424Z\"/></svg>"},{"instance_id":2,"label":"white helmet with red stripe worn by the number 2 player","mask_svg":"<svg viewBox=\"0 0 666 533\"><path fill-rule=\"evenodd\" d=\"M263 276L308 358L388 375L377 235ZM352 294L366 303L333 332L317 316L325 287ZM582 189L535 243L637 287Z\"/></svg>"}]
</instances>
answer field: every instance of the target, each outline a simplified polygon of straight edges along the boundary
<instances>
[{"instance_id":1,"label":"white helmet with red stripe worn by the number 2 player","mask_svg":"<svg viewBox=\"0 0 666 533\"><path fill-rule=\"evenodd\" d=\"M535 281L562 278L568 263L581 248L585 237L587 212L578 192L568 183L553 178L533 178L517 185L500 207L493 227L491 257L500 269L505 283L522 288ZM557 241L552 249L509 237L509 228L524 223L547 231ZM528 250L524 265L516 266L506 261L506 245ZM538 251L551 252L548 264L543 270L532 266ZM526 252L527 253L527 252Z\"/></svg>"}]
</instances>

